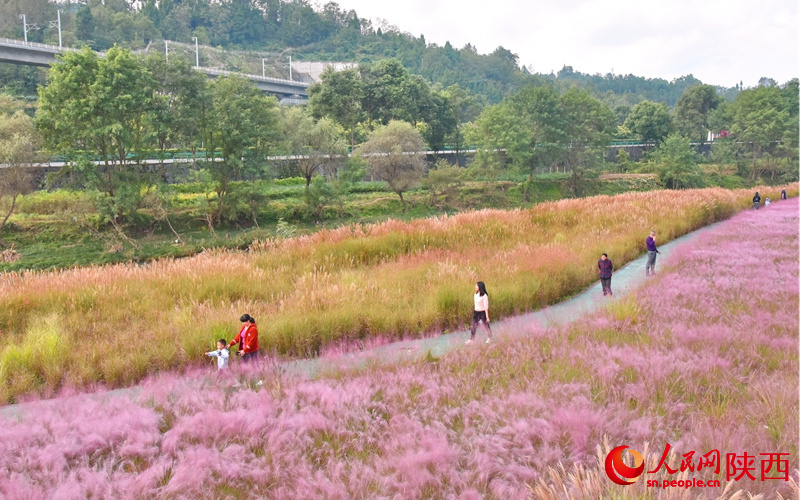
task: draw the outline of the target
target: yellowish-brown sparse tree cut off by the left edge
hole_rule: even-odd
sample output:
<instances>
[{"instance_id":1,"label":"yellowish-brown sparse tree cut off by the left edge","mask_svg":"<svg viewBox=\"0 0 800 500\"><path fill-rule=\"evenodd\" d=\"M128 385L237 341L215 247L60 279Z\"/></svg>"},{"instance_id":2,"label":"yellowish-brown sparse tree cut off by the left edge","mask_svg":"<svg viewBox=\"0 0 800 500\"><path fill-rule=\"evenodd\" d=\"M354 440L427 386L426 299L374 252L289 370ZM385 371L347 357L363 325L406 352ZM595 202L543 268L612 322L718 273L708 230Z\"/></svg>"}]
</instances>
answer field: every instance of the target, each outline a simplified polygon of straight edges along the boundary
<instances>
[{"instance_id":1,"label":"yellowish-brown sparse tree cut off by the left edge","mask_svg":"<svg viewBox=\"0 0 800 500\"><path fill-rule=\"evenodd\" d=\"M3 229L16 209L17 200L33 190L31 163L35 162L40 137L33 120L22 111L0 115L0 201L7 209L0 214L0 246L8 247Z\"/></svg>"}]
</instances>

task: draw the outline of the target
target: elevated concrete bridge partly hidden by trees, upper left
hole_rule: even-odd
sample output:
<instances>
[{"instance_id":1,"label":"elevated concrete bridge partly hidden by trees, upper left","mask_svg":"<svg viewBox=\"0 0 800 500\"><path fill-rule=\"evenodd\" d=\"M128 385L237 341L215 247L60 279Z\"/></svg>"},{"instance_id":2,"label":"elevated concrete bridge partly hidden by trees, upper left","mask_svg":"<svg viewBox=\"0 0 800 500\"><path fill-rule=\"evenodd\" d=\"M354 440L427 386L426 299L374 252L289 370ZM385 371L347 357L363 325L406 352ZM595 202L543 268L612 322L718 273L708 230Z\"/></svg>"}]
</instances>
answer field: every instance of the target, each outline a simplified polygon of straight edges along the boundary
<instances>
[{"instance_id":1,"label":"elevated concrete bridge partly hidden by trees, upper left","mask_svg":"<svg viewBox=\"0 0 800 500\"><path fill-rule=\"evenodd\" d=\"M74 50L76 49L45 45L43 43L23 42L22 40L14 40L11 38L0 38L0 62L12 64L48 67L56 62L57 55ZM103 55L102 52L99 54L101 56ZM280 78L234 73L211 68L197 69L205 73L209 78L217 78L222 75L243 76L253 82L261 91L278 97L291 98L293 96L298 96L301 99L308 98L309 84L305 82L281 80Z\"/></svg>"}]
</instances>

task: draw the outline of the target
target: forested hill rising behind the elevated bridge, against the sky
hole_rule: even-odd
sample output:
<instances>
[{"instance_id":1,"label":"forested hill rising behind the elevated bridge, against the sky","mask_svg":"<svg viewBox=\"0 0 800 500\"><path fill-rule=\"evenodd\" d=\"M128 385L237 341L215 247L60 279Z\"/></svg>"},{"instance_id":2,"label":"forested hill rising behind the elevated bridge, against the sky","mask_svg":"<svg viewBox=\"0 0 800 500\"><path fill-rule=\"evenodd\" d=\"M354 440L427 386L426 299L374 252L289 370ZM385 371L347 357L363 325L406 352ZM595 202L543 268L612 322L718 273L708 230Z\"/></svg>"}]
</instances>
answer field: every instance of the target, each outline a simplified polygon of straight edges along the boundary
<instances>
[{"instance_id":1,"label":"forested hill rising behind the elevated bridge, against the sky","mask_svg":"<svg viewBox=\"0 0 800 500\"><path fill-rule=\"evenodd\" d=\"M458 84L489 103L526 84L550 80L565 86L578 83L612 105L632 106L647 99L674 106L684 90L700 83L691 75L668 82L633 75L587 75L569 66L557 74L531 74L504 47L478 54L470 44L460 49L449 43L428 44L422 35L359 18L334 2L315 9L306 0L89 0L60 5L48 0L0 0L0 36L21 39L19 15L26 14L28 24L38 28L30 29L29 40L57 43L57 30L51 24L59 7L64 11L63 39L68 46L105 50L119 44L139 49L162 39L191 42L197 37L203 45L291 55L296 60L395 58L412 73L443 87ZM239 69L235 59L228 69ZM35 94L41 79L42 72L33 68L0 65L0 85L14 93Z\"/></svg>"}]
</instances>

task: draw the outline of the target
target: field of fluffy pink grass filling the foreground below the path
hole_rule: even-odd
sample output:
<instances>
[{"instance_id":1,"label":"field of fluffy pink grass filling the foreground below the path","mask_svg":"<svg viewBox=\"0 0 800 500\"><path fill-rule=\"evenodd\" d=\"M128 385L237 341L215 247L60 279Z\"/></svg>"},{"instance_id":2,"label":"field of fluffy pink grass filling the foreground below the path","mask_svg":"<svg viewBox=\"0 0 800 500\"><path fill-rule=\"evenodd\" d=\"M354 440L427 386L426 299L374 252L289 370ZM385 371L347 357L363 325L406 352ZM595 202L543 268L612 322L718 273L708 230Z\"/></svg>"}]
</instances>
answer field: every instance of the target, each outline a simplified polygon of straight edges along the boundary
<instances>
[{"instance_id":1,"label":"field of fluffy pink grass filling the foreground below the path","mask_svg":"<svg viewBox=\"0 0 800 500\"><path fill-rule=\"evenodd\" d=\"M721 223L660 269L603 313L441 358L315 380L209 365L6 408L0 497L796 498L797 199ZM690 476L721 488L656 491L598 466L603 444L650 465L667 442L672 467L689 451L788 453L791 481L727 482L723 463Z\"/></svg>"}]
</instances>

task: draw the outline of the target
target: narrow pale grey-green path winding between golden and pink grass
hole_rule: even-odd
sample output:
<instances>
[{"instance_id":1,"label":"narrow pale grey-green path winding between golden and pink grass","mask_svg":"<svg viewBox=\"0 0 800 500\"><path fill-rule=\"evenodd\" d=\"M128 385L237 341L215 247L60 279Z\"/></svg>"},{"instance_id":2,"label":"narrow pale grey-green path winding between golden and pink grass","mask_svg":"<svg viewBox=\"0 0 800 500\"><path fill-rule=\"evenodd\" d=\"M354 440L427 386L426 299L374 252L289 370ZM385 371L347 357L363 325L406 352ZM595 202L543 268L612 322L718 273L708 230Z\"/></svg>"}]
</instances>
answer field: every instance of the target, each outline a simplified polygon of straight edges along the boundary
<instances>
[{"instance_id":1,"label":"narrow pale grey-green path winding between golden and pink grass","mask_svg":"<svg viewBox=\"0 0 800 500\"><path fill-rule=\"evenodd\" d=\"M774 202L773 205L798 205L797 198L790 198L786 201ZM765 213L769 209L762 209ZM691 233L681 236L669 243L659 245L659 250L662 255L659 256L657 268L663 269L664 264L668 262L671 251L674 251L678 246L683 243L690 242L700 235L711 232L715 227L720 224L725 224L727 221L721 221L709 226L697 229ZM646 234L642 233L642 239ZM613 259L612 259L613 260ZM658 278L648 278L645 276L645 264L647 255L644 254L633 261L626 264L624 267L614 271L612 279L612 289L614 290L614 298L606 298L602 294L602 289L599 281L590 286L583 292L566 299L558 304L533 311L518 316L503 319L501 321L492 322L492 331L495 335L495 341L501 340L503 337L508 336L524 336L529 334L531 329L548 328L558 325L567 324L578 320L579 318L599 311L607 306L611 301L618 300L629 293L642 286L647 280L657 280ZM491 288L490 288L491 290ZM465 313L466 314L466 313ZM274 374L301 376L308 378L316 378L325 375L326 373L334 372L340 368L358 368L361 366L374 365L374 364L389 364L403 359L417 359L425 356L434 358L440 357L448 352L456 349L491 349L491 345L485 345L485 331L479 329L479 334L476 336L476 342L470 346L465 346L464 341L469 338L469 331L462 330L453 333L438 335L436 337L428 337L422 339L404 340L392 342L378 347L366 347L363 350L345 353L345 354L323 354L320 357L310 359L300 359L291 361L279 361L270 359L265 361L269 364L267 371ZM263 373L264 370L261 370ZM237 370L232 372L235 374ZM200 374L201 372L189 372L186 375L185 382L178 385L181 390L202 390L204 385L209 383L211 375L216 375L216 370ZM263 375L262 375L263 376ZM152 377L157 381L158 376ZM105 400L106 398L127 396L135 399L145 386L147 381L128 388L98 391L94 393L84 393L75 396L67 396L74 398L91 397ZM152 380L150 381L152 383ZM41 404L49 404L57 401L39 400L15 405L7 405L0 407L0 416L22 419L25 416L35 414L36 407Z\"/></svg>"}]
</instances>

